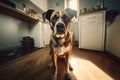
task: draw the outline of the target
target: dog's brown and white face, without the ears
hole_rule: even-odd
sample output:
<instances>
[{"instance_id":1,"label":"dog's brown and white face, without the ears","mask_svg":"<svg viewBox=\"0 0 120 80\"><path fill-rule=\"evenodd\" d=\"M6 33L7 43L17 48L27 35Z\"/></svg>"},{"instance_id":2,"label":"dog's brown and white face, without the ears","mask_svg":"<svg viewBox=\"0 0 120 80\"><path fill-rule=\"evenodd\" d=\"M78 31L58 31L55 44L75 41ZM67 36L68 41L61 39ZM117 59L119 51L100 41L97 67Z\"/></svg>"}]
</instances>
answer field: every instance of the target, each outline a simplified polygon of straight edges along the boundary
<instances>
[{"instance_id":1,"label":"dog's brown and white face, without the ears","mask_svg":"<svg viewBox=\"0 0 120 80\"><path fill-rule=\"evenodd\" d=\"M67 34L69 23L70 18L65 12L54 11L50 17L50 26L57 38Z\"/></svg>"}]
</instances>

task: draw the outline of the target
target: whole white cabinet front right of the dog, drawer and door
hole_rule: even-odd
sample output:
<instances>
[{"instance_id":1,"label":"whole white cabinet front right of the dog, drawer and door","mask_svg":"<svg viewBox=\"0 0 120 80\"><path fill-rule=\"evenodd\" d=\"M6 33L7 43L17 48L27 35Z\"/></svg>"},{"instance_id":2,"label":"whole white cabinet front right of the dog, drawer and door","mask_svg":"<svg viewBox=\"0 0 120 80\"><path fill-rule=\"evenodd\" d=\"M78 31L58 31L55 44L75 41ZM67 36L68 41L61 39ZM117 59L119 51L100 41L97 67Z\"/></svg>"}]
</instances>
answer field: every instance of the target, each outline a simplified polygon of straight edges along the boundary
<instances>
[{"instance_id":1,"label":"whole white cabinet front right of the dog, drawer and door","mask_svg":"<svg viewBox=\"0 0 120 80\"><path fill-rule=\"evenodd\" d=\"M105 10L80 15L79 48L104 50Z\"/></svg>"}]
</instances>

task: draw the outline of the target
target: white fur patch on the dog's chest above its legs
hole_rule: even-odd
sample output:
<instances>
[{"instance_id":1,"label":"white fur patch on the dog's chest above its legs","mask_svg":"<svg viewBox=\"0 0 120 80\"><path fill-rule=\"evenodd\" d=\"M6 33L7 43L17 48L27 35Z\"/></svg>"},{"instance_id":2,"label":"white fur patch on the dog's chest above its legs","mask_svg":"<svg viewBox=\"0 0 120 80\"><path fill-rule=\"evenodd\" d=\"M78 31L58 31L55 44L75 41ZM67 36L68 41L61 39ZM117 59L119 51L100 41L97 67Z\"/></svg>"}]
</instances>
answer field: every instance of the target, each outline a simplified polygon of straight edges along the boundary
<instances>
[{"instance_id":1,"label":"white fur patch on the dog's chest above its legs","mask_svg":"<svg viewBox=\"0 0 120 80\"><path fill-rule=\"evenodd\" d=\"M70 46L68 47L65 47L65 46L62 46L62 47L56 47L54 48L54 52L60 56L60 55L63 55L64 53L66 53L68 50L69 50Z\"/></svg>"}]
</instances>

